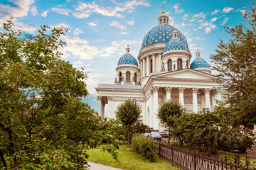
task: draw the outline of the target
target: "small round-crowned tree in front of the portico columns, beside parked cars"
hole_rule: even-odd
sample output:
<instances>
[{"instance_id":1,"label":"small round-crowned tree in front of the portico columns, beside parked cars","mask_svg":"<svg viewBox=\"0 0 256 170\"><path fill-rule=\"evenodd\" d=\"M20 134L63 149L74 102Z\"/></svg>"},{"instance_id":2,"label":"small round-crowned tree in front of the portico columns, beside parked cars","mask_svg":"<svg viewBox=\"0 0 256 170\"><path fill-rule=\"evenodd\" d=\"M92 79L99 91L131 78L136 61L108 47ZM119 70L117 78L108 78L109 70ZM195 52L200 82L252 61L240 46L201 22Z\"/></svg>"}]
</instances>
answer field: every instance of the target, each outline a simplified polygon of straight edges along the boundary
<instances>
[{"instance_id":1,"label":"small round-crowned tree in front of the portico columns, beside parked cars","mask_svg":"<svg viewBox=\"0 0 256 170\"><path fill-rule=\"evenodd\" d=\"M181 104L174 101L166 101L158 111L157 117L160 122L169 129L169 134L171 128L174 127L175 120L181 116L182 113L185 113L185 109Z\"/></svg>"}]
</instances>

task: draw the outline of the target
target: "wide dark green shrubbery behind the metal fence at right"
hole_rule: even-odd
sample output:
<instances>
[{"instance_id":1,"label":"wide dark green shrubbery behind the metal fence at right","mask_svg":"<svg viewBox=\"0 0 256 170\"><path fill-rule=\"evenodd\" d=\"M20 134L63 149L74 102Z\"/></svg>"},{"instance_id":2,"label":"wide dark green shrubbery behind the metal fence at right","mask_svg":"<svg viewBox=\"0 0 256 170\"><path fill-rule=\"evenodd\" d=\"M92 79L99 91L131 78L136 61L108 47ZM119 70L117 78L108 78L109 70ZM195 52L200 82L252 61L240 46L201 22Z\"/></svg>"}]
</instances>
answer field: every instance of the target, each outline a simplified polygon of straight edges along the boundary
<instances>
[{"instance_id":1,"label":"wide dark green shrubbery behind the metal fence at right","mask_svg":"<svg viewBox=\"0 0 256 170\"><path fill-rule=\"evenodd\" d=\"M230 129L221 122L221 117L208 110L199 114L183 114L176 120L173 132L181 145L191 149L199 147L208 153L218 149L250 148L255 135L247 129Z\"/></svg>"}]
</instances>

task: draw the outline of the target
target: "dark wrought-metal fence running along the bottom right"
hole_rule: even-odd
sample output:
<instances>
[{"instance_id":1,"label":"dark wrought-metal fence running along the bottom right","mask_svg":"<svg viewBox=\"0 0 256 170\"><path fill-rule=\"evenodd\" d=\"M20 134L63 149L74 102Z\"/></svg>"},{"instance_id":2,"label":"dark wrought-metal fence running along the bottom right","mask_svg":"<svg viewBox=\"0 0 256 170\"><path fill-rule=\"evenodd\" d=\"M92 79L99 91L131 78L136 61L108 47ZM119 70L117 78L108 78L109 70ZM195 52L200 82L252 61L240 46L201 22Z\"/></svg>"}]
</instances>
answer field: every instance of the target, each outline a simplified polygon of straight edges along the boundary
<instances>
[{"instance_id":1,"label":"dark wrought-metal fence running along the bottom right","mask_svg":"<svg viewBox=\"0 0 256 170\"><path fill-rule=\"evenodd\" d=\"M159 142L156 149L160 157L185 170L256 170L256 159L227 154L221 157L208 157L196 152Z\"/></svg>"}]
</instances>

